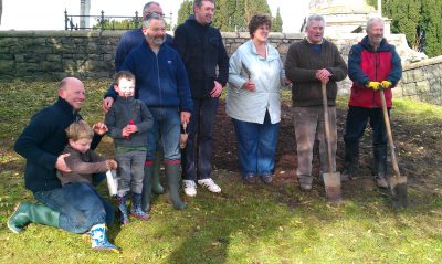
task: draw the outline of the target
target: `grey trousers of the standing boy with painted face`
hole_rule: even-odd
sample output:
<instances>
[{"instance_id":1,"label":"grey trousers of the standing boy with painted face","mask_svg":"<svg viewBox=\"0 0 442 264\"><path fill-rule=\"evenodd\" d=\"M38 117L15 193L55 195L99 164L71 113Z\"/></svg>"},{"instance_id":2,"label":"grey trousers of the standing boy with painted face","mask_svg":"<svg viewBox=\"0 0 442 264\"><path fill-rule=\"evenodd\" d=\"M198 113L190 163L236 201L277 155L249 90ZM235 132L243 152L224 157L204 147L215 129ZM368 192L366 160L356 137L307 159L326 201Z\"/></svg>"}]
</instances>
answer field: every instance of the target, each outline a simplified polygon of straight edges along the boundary
<instances>
[{"instance_id":1,"label":"grey trousers of the standing boy with painted face","mask_svg":"<svg viewBox=\"0 0 442 264\"><path fill-rule=\"evenodd\" d=\"M140 194L145 177L146 151L133 150L115 155L118 162L118 196L124 197L129 191Z\"/></svg>"}]
</instances>

